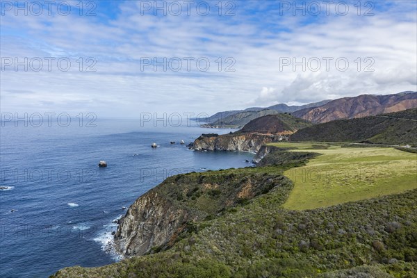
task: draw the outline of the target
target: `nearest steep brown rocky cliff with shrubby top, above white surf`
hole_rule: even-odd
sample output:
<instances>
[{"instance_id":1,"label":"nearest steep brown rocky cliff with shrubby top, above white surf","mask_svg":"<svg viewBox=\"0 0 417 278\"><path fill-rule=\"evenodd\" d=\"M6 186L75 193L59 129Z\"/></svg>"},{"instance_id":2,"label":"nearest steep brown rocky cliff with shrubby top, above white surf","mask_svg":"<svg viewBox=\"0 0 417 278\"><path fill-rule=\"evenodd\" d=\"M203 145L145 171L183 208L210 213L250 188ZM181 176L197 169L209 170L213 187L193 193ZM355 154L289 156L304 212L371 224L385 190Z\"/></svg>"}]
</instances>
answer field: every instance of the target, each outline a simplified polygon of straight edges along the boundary
<instances>
[{"instance_id":1,"label":"nearest steep brown rocky cliff with shrubby top, above white surf","mask_svg":"<svg viewBox=\"0 0 417 278\"><path fill-rule=\"evenodd\" d=\"M267 193L283 180L276 174L236 173L230 170L169 177L129 207L117 227L116 250L133 256L171 247L192 223L214 218L229 206Z\"/></svg>"}]
</instances>

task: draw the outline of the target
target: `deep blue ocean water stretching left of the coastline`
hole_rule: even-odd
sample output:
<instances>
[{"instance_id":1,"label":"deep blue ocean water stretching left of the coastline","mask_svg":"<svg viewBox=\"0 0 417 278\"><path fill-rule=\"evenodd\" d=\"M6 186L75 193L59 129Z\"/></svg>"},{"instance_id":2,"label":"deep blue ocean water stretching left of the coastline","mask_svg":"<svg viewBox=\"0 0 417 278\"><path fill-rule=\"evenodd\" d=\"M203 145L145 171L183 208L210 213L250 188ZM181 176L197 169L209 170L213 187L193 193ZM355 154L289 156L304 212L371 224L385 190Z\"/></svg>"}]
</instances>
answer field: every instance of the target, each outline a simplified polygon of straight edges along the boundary
<instances>
[{"instance_id":1,"label":"deep blue ocean water stretching left of the coastline","mask_svg":"<svg viewBox=\"0 0 417 278\"><path fill-rule=\"evenodd\" d=\"M48 277L67 266L113 263L117 256L106 243L123 206L172 174L246 167L245 159L253 156L179 145L213 131L197 125L1 124L0 186L8 187L0 190L0 277L5 278ZM153 142L160 147L152 149ZM108 167L99 168L101 160Z\"/></svg>"}]
</instances>

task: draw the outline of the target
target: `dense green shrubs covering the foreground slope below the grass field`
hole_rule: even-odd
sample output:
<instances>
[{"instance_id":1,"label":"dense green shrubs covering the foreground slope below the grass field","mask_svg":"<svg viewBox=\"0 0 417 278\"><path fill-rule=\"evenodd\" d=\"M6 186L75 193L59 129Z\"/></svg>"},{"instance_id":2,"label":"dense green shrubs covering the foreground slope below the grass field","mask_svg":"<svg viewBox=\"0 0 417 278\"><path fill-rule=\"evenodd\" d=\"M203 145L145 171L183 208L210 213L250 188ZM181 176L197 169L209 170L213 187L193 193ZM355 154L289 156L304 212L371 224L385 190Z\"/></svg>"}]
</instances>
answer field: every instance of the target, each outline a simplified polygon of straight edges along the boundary
<instances>
[{"instance_id":1,"label":"dense green shrubs covering the foreground slope below the grass field","mask_svg":"<svg viewBox=\"0 0 417 278\"><path fill-rule=\"evenodd\" d=\"M170 250L53 277L416 277L417 190L312 211L280 208L290 191L195 223Z\"/></svg>"}]
</instances>

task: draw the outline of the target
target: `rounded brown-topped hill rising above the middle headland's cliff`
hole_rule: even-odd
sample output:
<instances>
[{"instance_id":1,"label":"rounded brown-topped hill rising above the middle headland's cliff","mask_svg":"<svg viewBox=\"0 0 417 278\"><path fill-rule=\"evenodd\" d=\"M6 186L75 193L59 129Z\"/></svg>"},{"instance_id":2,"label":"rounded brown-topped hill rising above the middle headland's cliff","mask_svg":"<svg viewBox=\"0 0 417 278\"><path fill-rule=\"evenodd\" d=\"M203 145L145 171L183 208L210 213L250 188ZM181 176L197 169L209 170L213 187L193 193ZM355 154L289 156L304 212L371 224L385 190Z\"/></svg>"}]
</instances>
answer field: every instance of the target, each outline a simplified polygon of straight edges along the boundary
<instances>
[{"instance_id":1,"label":"rounded brown-topped hill rising above the middle headland's cliff","mask_svg":"<svg viewBox=\"0 0 417 278\"><path fill-rule=\"evenodd\" d=\"M307 126L311 126L311 122L288 114L279 113L257 117L245 124L243 129L240 129L240 132L286 135Z\"/></svg>"}]
</instances>

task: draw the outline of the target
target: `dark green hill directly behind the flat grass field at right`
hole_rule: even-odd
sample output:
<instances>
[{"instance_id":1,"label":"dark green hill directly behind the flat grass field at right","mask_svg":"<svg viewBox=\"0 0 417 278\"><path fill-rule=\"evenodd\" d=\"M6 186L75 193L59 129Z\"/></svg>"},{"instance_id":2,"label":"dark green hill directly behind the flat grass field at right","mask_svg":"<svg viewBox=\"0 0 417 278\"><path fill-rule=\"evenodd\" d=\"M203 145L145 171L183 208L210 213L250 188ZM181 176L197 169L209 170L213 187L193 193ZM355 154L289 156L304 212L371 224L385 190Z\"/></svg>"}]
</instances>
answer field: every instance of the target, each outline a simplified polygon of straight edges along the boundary
<instances>
[{"instance_id":1,"label":"dark green hill directly behind the flat grass field at right","mask_svg":"<svg viewBox=\"0 0 417 278\"><path fill-rule=\"evenodd\" d=\"M316 124L297 131L291 140L417 146L417 108Z\"/></svg>"}]
</instances>

